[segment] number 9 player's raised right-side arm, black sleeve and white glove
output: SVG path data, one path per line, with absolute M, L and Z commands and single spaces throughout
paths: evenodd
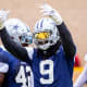
M 45 3 L 40 8 L 42 9 L 41 12 L 44 12 L 44 15 L 48 15 L 55 22 L 58 30 L 60 33 L 60 37 L 61 37 L 61 41 L 64 48 L 65 55 L 67 58 L 74 58 L 76 48 L 73 42 L 72 36 L 70 32 L 67 30 L 67 27 L 65 26 L 61 15 L 47 3 Z

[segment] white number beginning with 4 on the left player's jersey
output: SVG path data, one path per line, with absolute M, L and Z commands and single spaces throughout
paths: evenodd
M 16 83 L 22 83 L 22 87 L 30 87 L 29 80 L 30 76 L 26 78 L 25 73 L 32 72 L 29 66 L 26 66 L 26 72 L 24 71 L 24 66 L 21 65 L 17 76 L 15 77 Z M 26 80 L 28 79 L 28 86 L 26 85 Z

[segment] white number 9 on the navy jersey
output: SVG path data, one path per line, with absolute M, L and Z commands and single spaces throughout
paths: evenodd
M 49 65 L 49 70 L 45 70 L 45 65 Z M 52 84 L 53 83 L 53 61 L 52 60 L 45 60 L 40 62 L 40 74 L 41 75 L 49 75 L 48 79 L 40 78 L 41 84 Z

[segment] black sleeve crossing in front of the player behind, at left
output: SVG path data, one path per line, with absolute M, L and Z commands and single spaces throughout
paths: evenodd
M 5 27 L 2 30 L 0 30 L 0 37 L 5 49 L 9 52 L 11 52 L 14 57 L 25 62 L 30 61 L 26 49 L 11 39 Z

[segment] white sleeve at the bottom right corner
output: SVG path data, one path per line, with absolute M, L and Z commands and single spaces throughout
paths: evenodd
M 76 79 L 74 87 L 83 87 L 86 84 L 86 82 L 87 82 L 87 64 L 83 73 Z

